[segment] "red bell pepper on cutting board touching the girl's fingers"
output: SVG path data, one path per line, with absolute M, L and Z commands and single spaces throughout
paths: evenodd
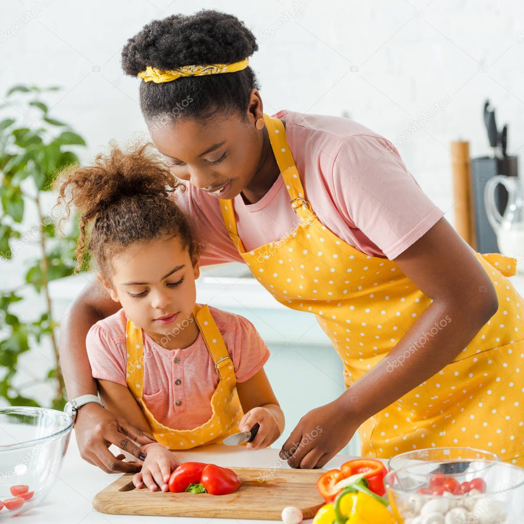
M 202 462 L 186 462 L 176 468 L 169 477 L 171 493 L 209 493 L 228 495 L 241 486 L 237 474 L 225 467 Z

